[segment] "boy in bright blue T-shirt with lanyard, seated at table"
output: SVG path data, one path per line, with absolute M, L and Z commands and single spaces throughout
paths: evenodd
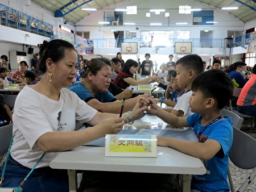
M 233 128 L 230 118 L 221 115 L 221 109 L 232 97 L 232 80 L 221 70 L 208 70 L 195 78 L 191 89 L 189 105 L 195 114 L 187 117 L 161 110 L 151 98 L 146 99 L 144 105 L 151 105 L 148 112 L 174 127 L 193 127 L 199 141 L 158 137 L 157 144 L 204 160 L 207 173 L 193 176 L 191 189 L 229 191 L 228 153 L 232 147 Z

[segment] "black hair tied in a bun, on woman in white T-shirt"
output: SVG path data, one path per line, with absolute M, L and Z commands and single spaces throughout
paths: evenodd
M 61 39 L 53 39 L 49 42 L 43 41 L 43 44 L 38 44 L 38 47 L 40 49 L 38 69 L 42 73 L 46 73 L 46 60 L 48 58 L 57 63 L 65 57 L 65 51 L 67 49 L 76 51 L 75 47 L 71 43 Z

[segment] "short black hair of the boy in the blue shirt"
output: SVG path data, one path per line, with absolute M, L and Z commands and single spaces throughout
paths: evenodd
M 195 78 L 192 91 L 200 90 L 205 97 L 213 97 L 219 109 L 224 108 L 233 95 L 233 82 L 220 69 L 208 70 Z

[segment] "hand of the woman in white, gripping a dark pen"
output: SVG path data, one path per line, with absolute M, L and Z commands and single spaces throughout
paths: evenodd
M 103 120 L 97 127 L 100 128 L 101 132 L 106 134 L 116 134 L 123 128 L 123 118 L 111 118 Z

